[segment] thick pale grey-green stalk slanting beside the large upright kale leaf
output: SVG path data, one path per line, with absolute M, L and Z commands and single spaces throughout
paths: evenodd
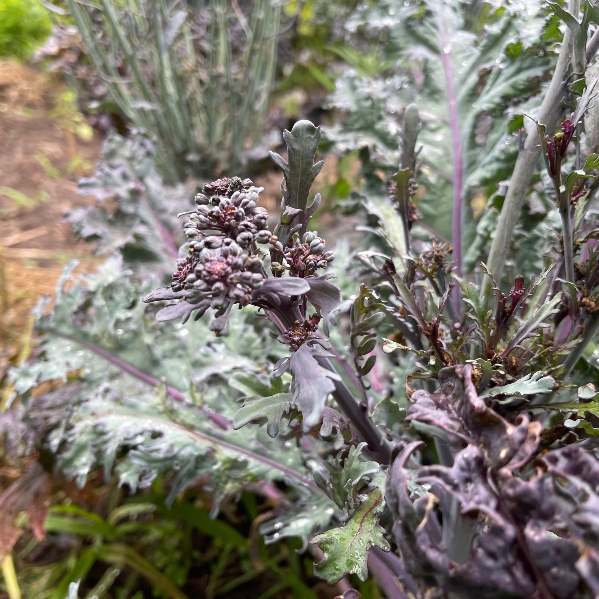
M 570 13 L 577 13 L 579 6 L 579 0 L 570 0 L 568 10 Z M 565 91 L 564 79 L 570 65 L 571 53 L 572 35 L 570 29 L 566 29 L 549 89 L 547 89 L 547 93 L 537 113 L 537 120 L 546 126 L 547 131 L 553 130 L 561 113 L 561 101 Z M 516 160 L 516 166 L 510 180 L 506 199 L 503 202 L 503 208 L 501 208 L 499 222 L 497 223 L 497 229 L 491 243 L 491 252 L 489 252 L 489 260 L 487 262 L 489 271 L 498 285 L 501 283 L 501 274 L 503 274 L 503 267 L 506 264 L 507 252 L 512 242 L 514 228 L 518 222 L 522 204 L 524 204 L 528 186 L 530 185 L 530 180 L 533 176 L 537 159 L 539 158 L 539 143 L 539 132 L 533 126 L 527 135 L 524 148 Z M 485 274 L 483 284 L 480 288 L 481 299 L 486 300 L 489 297 L 491 286 L 492 279 Z

